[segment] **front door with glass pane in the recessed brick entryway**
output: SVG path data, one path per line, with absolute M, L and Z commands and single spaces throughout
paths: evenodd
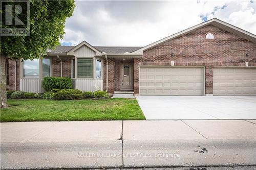
M 133 64 L 121 63 L 121 90 L 133 89 Z

